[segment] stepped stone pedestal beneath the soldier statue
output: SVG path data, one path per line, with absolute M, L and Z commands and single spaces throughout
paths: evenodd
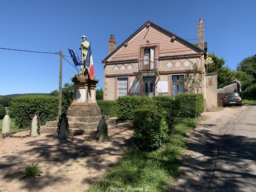
M 88 75 L 71 78 L 74 83 L 74 100 L 68 108 L 67 117 L 71 134 L 94 135 L 101 120 L 100 107 L 96 102 L 96 84 L 99 79 Z M 59 119 L 59 117 L 57 117 Z M 116 120 L 105 116 L 109 129 L 118 127 Z M 47 121 L 41 126 L 42 133 L 57 133 L 58 121 Z

